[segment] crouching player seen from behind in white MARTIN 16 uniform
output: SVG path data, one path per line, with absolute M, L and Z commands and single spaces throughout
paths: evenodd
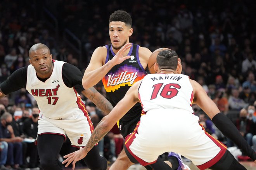
M 157 74 L 147 75 L 135 83 L 98 124 L 85 148 L 64 156 L 67 158 L 64 162 L 69 164 L 73 161 L 74 168 L 76 161 L 83 158 L 127 110 L 140 102 L 144 115 L 125 141 L 125 151 L 131 162 L 152 165 L 158 155 L 171 150 L 189 158 L 201 170 L 246 170 L 225 145 L 199 125 L 199 117 L 193 114 L 191 107 L 197 104 L 217 128 L 256 163 L 256 154 L 234 124 L 220 113 L 199 83 L 177 73 L 181 71 L 176 70 L 181 69 L 175 51 L 161 51 L 155 64 Z

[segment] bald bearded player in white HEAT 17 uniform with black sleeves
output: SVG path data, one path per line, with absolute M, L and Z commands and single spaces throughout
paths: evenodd
M 83 74 L 73 65 L 52 60 L 45 44 L 29 49 L 31 65 L 16 70 L 0 85 L 0 98 L 25 87 L 35 97 L 40 109 L 38 121 L 38 155 L 44 170 L 61 170 L 57 158 L 61 146 L 69 137 L 72 146 L 85 146 L 93 131 L 85 104 L 78 92 L 109 113 L 112 105 L 95 88 L 84 89 Z M 99 155 L 97 147 L 84 158 L 92 170 L 106 170 L 107 160 Z

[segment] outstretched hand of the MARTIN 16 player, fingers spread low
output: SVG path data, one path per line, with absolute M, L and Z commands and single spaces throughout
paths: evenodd
M 83 159 L 86 155 L 87 155 L 87 151 L 84 150 L 82 147 L 80 147 L 80 150 L 78 151 L 74 151 L 72 153 L 69 153 L 68 155 L 63 156 L 63 158 L 67 158 L 66 160 L 64 160 L 62 162 L 62 164 L 66 163 L 65 167 L 67 167 L 71 162 L 73 167 L 72 169 L 74 170 L 75 166 L 76 166 L 76 162 L 78 162 L 79 160 Z

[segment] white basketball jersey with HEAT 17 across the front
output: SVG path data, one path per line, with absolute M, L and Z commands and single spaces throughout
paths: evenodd
M 45 82 L 37 78 L 32 65 L 28 66 L 26 89 L 35 97 L 40 115 L 51 119 L 72 118 L 74 113 L 87 114 L 80 95 L 74 88 L 67 87 L 63 82 L 62 66 L 64 63 L 54 61 L 52 75 Z

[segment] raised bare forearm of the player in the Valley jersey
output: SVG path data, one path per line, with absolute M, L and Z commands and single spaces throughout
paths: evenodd
M 88 89 L 102 80 L 107 72 L 114 66 L 111 61 L 108 61 L 105 65 L 95 70 L 85 72 L 82 79 L 83 88 Z

